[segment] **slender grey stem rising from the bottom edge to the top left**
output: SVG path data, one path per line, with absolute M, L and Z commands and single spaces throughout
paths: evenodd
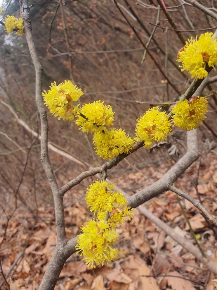
M 42 283 L 39 289 L 54 289 L 55 284 L 58 280 L 59 274 L 66 261 L 63 246 L 66 244 L 66 233 L 65 233 L 65 220 L 64 220 L 64 207 L 63 207 L 63 196 L 60 194 L 55 176 L 53 174 L 51 164 L 48 158 L 48 121 L 46 109 L 43 104 L 41 96 L 42 92 L 42 66 L 39 61 L 37 50 L 32 37 L 32 26 L 29 18 L 29 7 L 27 0 L 20 0 L 20 16 L 24 20 L 25 36 L 29 47 L 29 52 L 32 57 L 32 61 L 35 68 L 35 99 L 39 109 L 40 120 L 41 120 L 41 162 L 43 164 L 46 176 L 51 186 L 53 193 L 54 204 L 55 204 L 55 219 L 56 219 L 56 231 L 57 231 L 57 245 L 51 262 L 49 263 L 48 274 L 44 275 Z M 46 279 L 49 277 L 49 281 Z M 48 281 L 48 283 L 47 283 Z

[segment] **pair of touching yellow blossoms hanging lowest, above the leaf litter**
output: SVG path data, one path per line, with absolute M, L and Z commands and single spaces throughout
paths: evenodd
M 108 190 L 109 189 L 109 190 Z M 118 191 L 112 191 L 114 185 L 107 181 L 95 181 L 86 193 L 86 202 L 90 210 L 97 213 L 97 219 L 89 220 L 82 228 L 76 245 L 77 253 L 81 252 L 83 260 L 91 267 L 109 264 L 117 258 L 117 249 L 112 244 L 119 237 L 115 228 L 133 216 L 127 207 L 126 198 Z

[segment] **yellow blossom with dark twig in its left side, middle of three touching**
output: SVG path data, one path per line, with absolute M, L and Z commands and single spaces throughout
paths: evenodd
M 82 106 L 80 113 L 82 115 L 77 116 L 75 123 L 80 126 L 79 130 L 82 132 L 96 132 L 110 127 L 114 121 L 114 112 L 110 105 L 104 105 L 104 102 L 96 101 L 92 104 L 85 104 Z

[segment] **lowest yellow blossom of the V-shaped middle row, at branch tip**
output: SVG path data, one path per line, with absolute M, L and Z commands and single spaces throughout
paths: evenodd
M 122 129 L 111 129 L 95 132 L 93 135 L 93 144 L 96 146 L 96 154 L 103 159 L 112 160 L 121 153 L 128 153 L 133 140 Z

